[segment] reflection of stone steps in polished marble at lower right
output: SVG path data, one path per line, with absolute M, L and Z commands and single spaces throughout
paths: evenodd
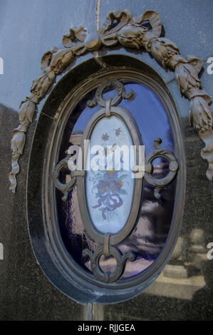
M 205 287 L 202 272 L 207 262 L 204 231 L 193 229 L 188 242 L 187 244 L 183 237 L 177 239 L 170 264 L 166 265 L 162 274 L 145 290 L 145 294 L 191 300 L 195 292 Z

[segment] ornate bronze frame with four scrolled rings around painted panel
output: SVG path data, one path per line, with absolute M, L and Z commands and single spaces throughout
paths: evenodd
M 103 100 L 103 91 L 105 88 L 114 86 L 117 90 L 117 94 L 114 98 L 110 98 L 107 100 Z M 95 105 L 99 105 L 101 107 L 88 121 L 87 125 L 85 126 L 85 130 L 83 131 L 83 137 L 81 140 L 81 150 L 84 148 L 85 140 L 90 139 L 90 135 L 93 133 L 93 129 L 95 125 L 98 123 L 99 120 L 102 118 L 110 118 L 111 115 L 115 115 L 121 120 L 123 123 L 128 127 L 130 131 L 130 135 L 133 140 L 133 145 L 136 148 L 141 145 L 140 140 L 140 132 L 137 129 L 137 125 L 135 120 L 132 118 L 132 115 L 129 113 L 128 110 L 125 108 L 117 107 L 120 101 L 125 99 L 133 99 L 134 93 L 130 92 L 128 94 L 125 93 L 125 88 L 123 83 L 118 80 L 108 80 L 101 83 L 98 86 L 95 92 L 95 98 L 93 101 L 88 101 L 87 105 L 90 108 L 93 108 Z M 160 147 L 160 143 L 162 141 L 160 138 L 155 140 L 154 146 L 155 150 L 147 155 L 145 159 L 145 180 L 149 182 L 151 185 L 155 186 L 154 195 L 157 199 L 160 198 L 159 191 L 167 187 L 170 182 L 175 178 L 178 169 L 178 163 L 175 156 L 170 153 L 169 151 Z M 83 161 L 85 161 L 85 157 L 87 156 L 87 152 L 83 152 Z M 62 200 L 68 200 L 68 191 L 72 190 L 74 185 L 77 184 L 77 192 L 78 192 L 78 204 L 80 207 L 80 215 L 82 218 L 83 225 L 85 227 L 85 232 L 88 236 L 95 242 L 98 242 L 99 247 L 93 253 L 90 249 L 83 250 L 83 256 L 88 256 L 90 258 L 91 269 L 96 279 L 100 280 L 101 282 L 116 282 L 123 274 L 125 270 L 125 262 L 129 259 L 131 262 L 135 261 L 136 255 L 133 252 L 127 252 L 122 254 L 118 249 L 118 244 L 123 242 L 124 239 L 128 238 L 128 236 L 133 231 L 133 228 L 137 224 L 137 215 L 140 208 L 140 202 L 142 197 L 142 177 L 134 179 L 134 190 L 133 190 L 133 199 L 132 205 L 130 210 L 130 215 L 128 217 L 127 222 L 125 222 L 125 226 L 122 230 L 115 234 L 103 234 L 99 232 L 93 225 L 93 222 L 90 219 L 90 215 L 88 212 L 87 200 L 85 197 L 85 173 L 84 171 L 74 170 L 71 171 L 71 181 L 67 184 L 62 184 L 59 181 L 60 171 L 63 169 L 68 168 L 68 159 L 71 155 L 68 155 L 65 159 L 61 160 L 57 165 L 55 170 L 53 170 L 53 181 L 58 190 L 63 192 Z M 157 157 L 167 158 L 170 161 L 169 170 L 170 172 L 167 176 L 158 179 L 152 176 L 153 167 L 152 161 L 155 160 Z M 133 173 L 138 172 L 138 165 L 137 168 L 133 167 Z M 100 269 L 99 261 L 100 257 L 105 255 L 107 257 L 113 256 L 116 259 L 117 265 L 115 271 L 113 273 L 106 273 Z

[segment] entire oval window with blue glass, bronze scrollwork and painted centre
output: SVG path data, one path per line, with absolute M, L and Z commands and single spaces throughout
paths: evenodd
M 133 169 L 88 169 L 98 150 L 85 155 L 84 172 L 62 167 L 73 157 L 65 155 L 70 145 L 84 151 L 85 140 L 102 147 L 103 155 L 107 146 L 143 144 L 145 175 L 131 177 L 140 173 Z M 119 285 L 138 279 L 159 259 L 172 223 L 178 168 L 170 117 L 149 87 L 112 80 L 76 105 L 63 133 L 54 181 L 63 243 L 85 274 Z

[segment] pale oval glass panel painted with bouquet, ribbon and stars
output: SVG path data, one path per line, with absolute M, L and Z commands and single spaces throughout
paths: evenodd
M 101 147 L 93 150 L 94 145 L 101 145 L 103 150 Z M 115 145 L 117 148 L 125 145 L 123 148 L 127 150 L 125 153 L 121 150 L 120 158 L 117 156 L 117 160 L 110 160 Z M 90 152 L 93 150 L 93 154 L 87 155 L 86 198 L 93 225 L 102 233 L 119 232 L 125 226 L 130 214 L 134 188 L 130 168 L 130 145 L 133 145 L 133 140 L 127 126 L 123 120 L 114 115 L 98 121 L 90 137 Z M 107 151 L 108 154 L 111 153 L 110 157 L 108 155 L 108 160 Z M 96 165 L 102 163 L 101 170 L 95 170 L 94 166 L 93 169 L 88 169 L 94 161 Z

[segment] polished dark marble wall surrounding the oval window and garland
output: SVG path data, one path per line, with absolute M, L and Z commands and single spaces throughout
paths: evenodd
M 95 5 L 95 0 L 8 0 L 0 4 L 0 57 L 4 59 L 4 75 L 0 75 L 0 242 L 4 244 L 4 260 L 0 260 L 1 320 L 82 320 L 85 317 L 84 306 L 66 297 L 48 281 L 36 264 L 31 249 L 26 223 L 26 179 L 36 118 L 28 128 L 16 195 L 9 191 L 8 175 L 11 169 L 11 134 L 18 125 L 19 103 L 28 95 L 33 79 L 41 73 L 41 56 L 53 46 L 61 47 L 63 34 L 68 33 L 72 26 L 83 25 L 88 31 L 95 30 Z M 203 61 L 213 56 L 211 0 L 100 0 L 100 26 L 108 11 L 116 7 L 128 8 L 133 11 L 133 15 L 154 9 L 162 19 L 165 37 L 177 43 L 183 56 L 194 54 Z M 167 277 L 167 282 L 154 282 L 147 292 L 134 299 L 118 305 L 98 305 L 98 309 L 103 309 L 102 317 L 106 320 L 213 319 L 213 260 L 206 257 L 207 244 L 213 242 L 212 185 L 205 177 L 207 163 L 200 158 L 200 150 L 204 145 L 189 127 L 189 102 L 181 98 L 174 73 L 165 72 L 147 53 L 119 47 L 99 51 L 100 56 L 113 53 L 127 54 L 152 66 L 168 83 L 167 87 L 177 105 L 187 159 L 185 212 L 180 230 L 180 237 L 185 240 L 185 256 L 171 259 L 170 264 L 182 266 L 184 261 L 190 264 L 187 265 L 189 273 L 185 279 Z M 78 58 L 75 65 L 92 56 L 88 53 Z M 98 70 L 98 64 L 94 62 L 94 66 Z M 61 76 L 57 82 L 60 79 Z M 75 79 L 72 80 L 70 86 L 66 87 L 67 91 L 75 85 Z M 204 90 L 213 96 L 213 75 L 207 74 L 207 63 L 204 63 L 201 80 Z M 43 103 L 38 105 L 38 110 L 41 110 Z M 53 99 L 53 110 L 55 103 Z M 45 110 L 45 106 L 43 110 L 48 114 L 43 116 L 45 122 L 51 122 L 49 117 L 53 116 L 53 111 Z M 36 175 L 34 180 L 36 185 Z M 204 235 L 202 241 L 198 238 L 197 242 L 198 245 L 202 244 L 203 259 L 197 256 L 198 253 L 193 254 L 194 229 L 202 229 Z M 43 259 L 43 262 L 46 261 Z M 172 286 L 174 283 L 175 286 Z M 170 286 L 173 296 L 168 294 Z M 185 287 L 185 291 L 182 287 Z M 191 289 L 193 294 L 189 297 Z M 96 314 L 98 309 L 94 309 Z M 93 319 L 95 317 L 93 315 Z

